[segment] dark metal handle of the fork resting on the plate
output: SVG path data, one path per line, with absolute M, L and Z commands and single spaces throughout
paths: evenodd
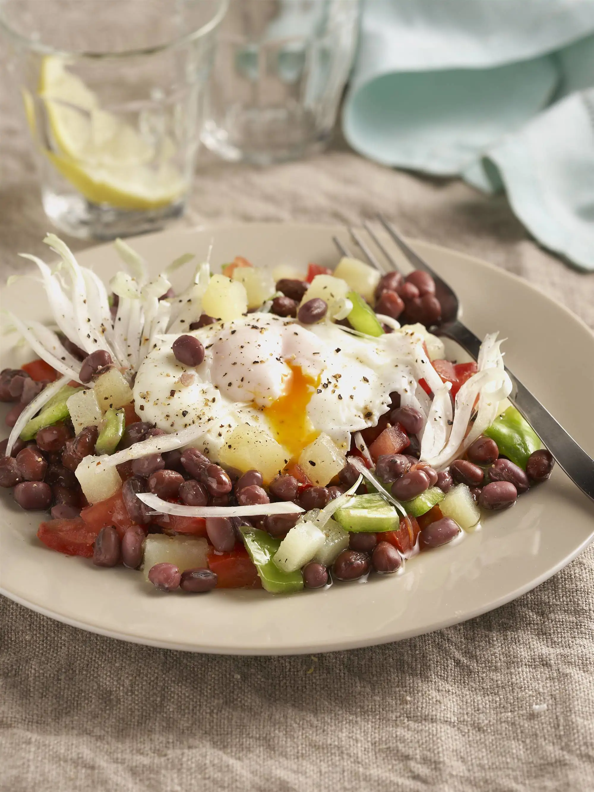
M 469 355 L 476 360 L 481 341 L 462 322 L 452 322 L 441 329 L 440 335 L 456 341 Z M 536 434 L 540 437 L 558 466 L 576 484 L 583 493 L 594 500 L 594 459 L 565 432 L 561 424 L 554 419 L 546 407 L 533 396 L 508 367 L 509 379 L 512 380 L 510 401 L 522 413 Z

